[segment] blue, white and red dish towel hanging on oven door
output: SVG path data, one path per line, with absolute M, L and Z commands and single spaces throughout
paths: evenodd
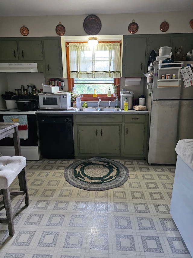
M 19 138 L 24 140 L 28 139 L 27 116 L 3 116 L 3 121 L 5 123 L 19 122 Z M 10 134 L 8 137 L 13 138 L 13 134 Z

